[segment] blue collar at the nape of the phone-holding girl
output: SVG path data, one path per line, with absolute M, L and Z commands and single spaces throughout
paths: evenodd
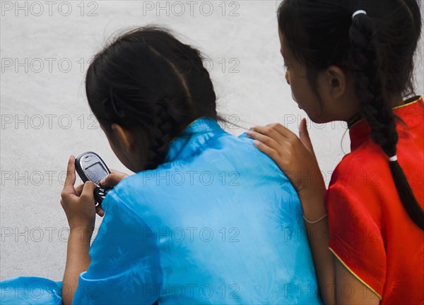
M 222 133 L 226 132 L 215 119 L 206 116 L 196 119 L 171 141 L 163 163 L 187 159 L 201 150 L 208 140 Z

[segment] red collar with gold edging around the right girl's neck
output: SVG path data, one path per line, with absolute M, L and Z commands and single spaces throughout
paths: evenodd
M 407 126 L 412 127 L 414 122 L 417 122 L 418 124 L 423 120 L 424 115 L 423 97 L 418 96 L 414 98 L 412 102 L 394 107 L 393 113 L 404 120 Z M 416 118 L 419 120 L 417 121 Z M 399 131 L 399 128 L 404 128 L 402 126 L 402 124 L 396 124 L 396 129 Z M 367 140 L 370 136 L 370 132 L 371 128 L 366 119 L 362 119 L 358 121 L 358 123 L 353 124 L 349 130 L 349 135 L 351 136 L 351 151 L 358 148 L 365 140 Z

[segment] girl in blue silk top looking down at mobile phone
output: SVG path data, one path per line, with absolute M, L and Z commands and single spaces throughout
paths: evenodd
M 96 211 L 71 156 L 63 282 L 5 280 L 2 304 L 321 304 L 298 195 L 250 138 L 220 127 L 196 49 L 160 28 L 126 32 L 95 56 L 86 93 L 137 174 L 102 181 L 114 189 Z M 37 284 L 43 297 L 22 293 Z

